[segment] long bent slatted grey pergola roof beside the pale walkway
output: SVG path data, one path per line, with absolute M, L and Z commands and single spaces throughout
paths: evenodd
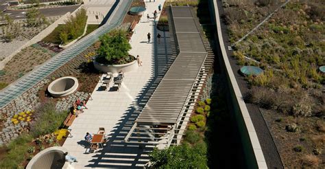
M 179 54 L 135 120 L 125 142 L 180 144 L 202 84 L 213 64 L 197 17 L 188 6 L 171 6 L 170 19 Z M 208 49 L 207 49 L 208 48 Z

